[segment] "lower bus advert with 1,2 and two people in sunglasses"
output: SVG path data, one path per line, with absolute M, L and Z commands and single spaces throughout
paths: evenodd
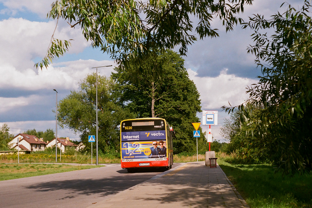
M 148 161 L 151 160 L 163 160 L 167 157 L 167 144 L 166 140 L 163 142 L 163 148 L 160 148 L 159 139 L 157 145 L 153 145 L 153 141 L 139 141 L 139 142 L 122 142 L 121 153 L 122 159 L 129 161 Z M 156 147 L 156 148 L 154 148 Z M 159 159 L 160 158 L 160 159 Z M 144 160 L 142 160 L 144 159 Z

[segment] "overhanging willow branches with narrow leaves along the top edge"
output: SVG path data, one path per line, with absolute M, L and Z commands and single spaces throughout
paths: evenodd
M 217 37 L 218 30 L 210 25 L 214 18 L 219 18 L 230 31 L 242 21 L 235 15 L 251 3 L 252 0 L 58 0 L 52 3 L 47 17 L 63 18 L 70 27 L 80 27 L 92 47 L 109 53 L 120 66 L 127 67 L 129 60 L 137 65 L 159 49 L 162 52 L 180 46 L 180 55 L 185 55 L 187 46 L 197 40 L 190 32 L 197 33 L 200 39 Z M 198 18 L 195 31 L 193 16 Z M 46 57 L 35 66 L 47 67 L 69 47 L 68 40 L 52 35 Z

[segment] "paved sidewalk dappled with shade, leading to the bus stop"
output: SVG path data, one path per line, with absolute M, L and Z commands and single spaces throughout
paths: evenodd
M 131 180 L 131 176 L 129 177 Z M 188 162 L 97 202 L 90 208 L 249 208 L 222 169 Z

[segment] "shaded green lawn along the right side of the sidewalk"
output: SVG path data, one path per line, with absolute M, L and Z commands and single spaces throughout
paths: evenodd
M 312 174 L 283 176 L 270 164 L 239 164 L 229 157 L 217 162 L 251 208 L 312 208 Z

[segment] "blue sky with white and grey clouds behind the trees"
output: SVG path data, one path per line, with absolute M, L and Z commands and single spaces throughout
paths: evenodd
M 280 8 L 284 0 L 256 0 L 246 6 L 240 16 L 259 13 L 266 17 L 283 12 Z M 56 21 L 46 19 L 53 0 L 0 0 L 0 125 L 7 123 L 10 133 L 18 134 L 27 129 L 55 131 L 56 92 L 58 100 L 78 89 L 78 82 L 89 73 L 92 67 L 113 65 L 99 69 L 100 75 L 109 76 L 115 62 L 107 54 L 92 49 L 80 29 L 71 29 L 60 21 L 54 37 L 74 39 L 70 51 L 42 71 L 33 66 L 45 55 Z M 303 0 L 290 0 L 288 3 L 298 8 Z M 185 68 L 189 77 L 197 85 L 201 94 L 202 110 L 218 110 L 217 126 L 212 126 L 213 137 L 222 140 L 219 128 L 228 115 L 221 112 L 223 105 L 238 105 L 248 99 L 246 86 L 257 82 L 261 75 L 255 68 L 254 57 L 247 54 L 246 48 L 252 44 L 252 31 L 241 29 L 225 32 L 220 21 L 212 22 L 212 28 L 219 28 L 220 37 L 207 38 L 188 47 Z M 201 118 L 201 114 L 197 114 Z M 207 127 L 204 127 L 207 130 Z M 69 129 L 58 128 L 58 137 L 69 136 L 79 139 Z

